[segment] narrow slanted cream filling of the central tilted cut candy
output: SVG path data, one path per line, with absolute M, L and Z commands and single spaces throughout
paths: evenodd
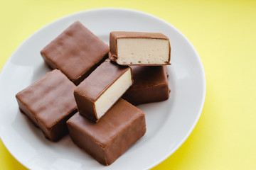
M 120 98 L 129 86 L 132 86 L 131 68 L 122 74 L 114 83 L 95 101 L 97 118 L 101 118 L 107 110 Z

